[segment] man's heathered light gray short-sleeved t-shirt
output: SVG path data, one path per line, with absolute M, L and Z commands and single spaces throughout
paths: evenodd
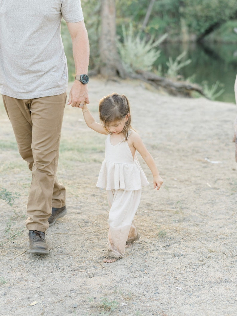
M 80 0 L 0 0 L 1 94 L 33 99 L 67 90 L 62 17 L 82 21 Z

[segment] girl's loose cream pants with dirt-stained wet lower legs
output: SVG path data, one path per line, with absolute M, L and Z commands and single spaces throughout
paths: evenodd
M 114 258 L 123 258 L 128 237 L 137 237 L 133 217 L 139 206 L 142 190 L 109 190 L 106 192 L 110 206 L 108 255 Z

